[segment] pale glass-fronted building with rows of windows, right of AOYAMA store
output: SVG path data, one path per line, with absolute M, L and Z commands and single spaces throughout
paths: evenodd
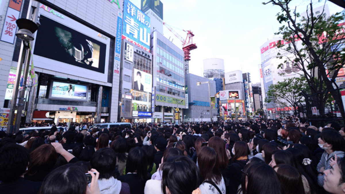
M 188 108 L 185 95 L 184 52 L 158 31 L 151 33 L 153 57 L 153 87 L 155 89 L 156 122 L 181 120 L 183 109 Z M 178 111 L 176 111 L 178 108 Z M 176 113 L 176 114 L 174 114 Z

